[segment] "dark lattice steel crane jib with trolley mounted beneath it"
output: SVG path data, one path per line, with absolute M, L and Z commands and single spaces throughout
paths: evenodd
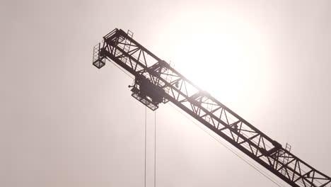
M 98 59 L 93 59 L 93 65 L 101 68 L 106 59 L 112 60 L 134 75 L 134 85 L 129 86 L 132 96 L 151 110 L 171 101 L 291 186 L 323 187 L 331 182 L 329 176 L 281 147 L 123 30 L 112 30 L 97 46 L 98 54 L 93 57 Z

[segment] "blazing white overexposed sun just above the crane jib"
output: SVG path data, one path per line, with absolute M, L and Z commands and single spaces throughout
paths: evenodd
M 190 31 L 179 33 L 173 62 L 175 69 L 200 88 L 223 101 L 231 100 L 256 79 L 252 74 L 266 52 L 260 35 L 248 24 L 238 20 L 214 23 L 219 25 L 189 23 L 180 29 Z

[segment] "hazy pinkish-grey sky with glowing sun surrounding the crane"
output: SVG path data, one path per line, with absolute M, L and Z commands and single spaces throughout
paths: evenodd
M 114 28 L 331 175 L 330 0 L 1 1 L 0 21 L 0 186 L 144 186 L 145 108 L 91 62 Z M 275 186 L 169 104 L 156 126 L 157 186 Z

